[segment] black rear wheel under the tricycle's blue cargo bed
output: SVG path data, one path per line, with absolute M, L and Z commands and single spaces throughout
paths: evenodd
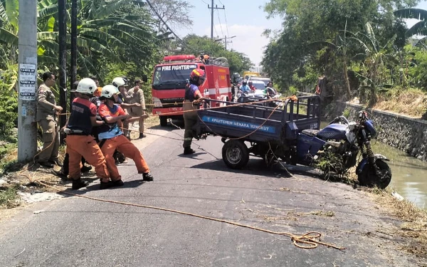
M 241 169 L 248 164 L 249 150 L 240 140 L 229 140 L 222 148 L 223 161 L 231 169 Z

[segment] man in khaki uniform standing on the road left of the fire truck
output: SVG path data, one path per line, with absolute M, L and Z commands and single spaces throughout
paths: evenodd
M 127 108 L 127 112 L 132 117 L 139 117 L 138 123 L 139 123 L 139 139 L 146 137 L 147 135 L 144 135 L 144 120 L 148 117 L 147 113 L 145 112 L 145 99 L 144 99 L 144 90 L 140 88 L 141 86 L 141 80 L 135 80 L 135 87 L 130 88 L 129 91 L 127 91 L 127 94 L 130 96 L 130 104 L 140 104 L 141 106 L 132 106 L 131 108 Z M 133 121 L 132 119 L 128 122 L 127 129 L 132 129 Z M 129 136 L 130 131 L 125 131 L 125 136 Z

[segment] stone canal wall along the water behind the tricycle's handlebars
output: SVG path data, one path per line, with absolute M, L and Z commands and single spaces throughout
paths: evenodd
M 416 119 L 405 115 L 382 110 L 364 108 L 351 103 L 335 103 L 334 108 L 325 115 L 328 120 L 349 112 L 349 120 L 357 120 L 360 110 L 371 113 L 374 126 L 378 132 L 377 139 L 381 142 L 403 150 L 417 159 L 427 162 L 427 120 Z

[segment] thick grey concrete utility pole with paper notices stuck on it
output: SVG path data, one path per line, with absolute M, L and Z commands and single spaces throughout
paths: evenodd
M 18 161 L 37 152 L 37 1 L 19 1 Z

